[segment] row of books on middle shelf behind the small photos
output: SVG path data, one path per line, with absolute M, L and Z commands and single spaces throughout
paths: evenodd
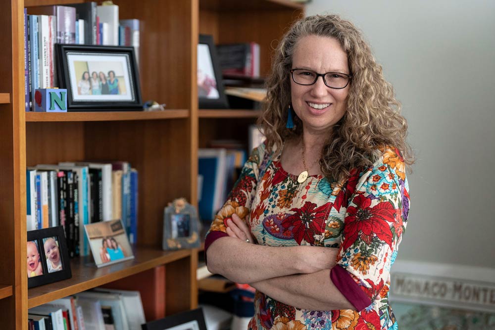
M 125 161 L 61 162 L 26 169 L 27 230 L 63 226 L 69 255 L 89 255 L 84 225 L 122 219 L 131 243 L 138 223 L 138 172 Z

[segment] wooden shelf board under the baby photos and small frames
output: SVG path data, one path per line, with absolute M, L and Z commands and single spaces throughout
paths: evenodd
M 162 251 L 153 248 L 134 248 L 134 260 L 97 268 L 92 258 L 71 260 L 72 278 L 28 290 L 28 308 L 42 305 L 54 299 L 91 289 L 93 287 L 123 279 L 148 269 L 167 264 L 191 255 L 191 250 Z M 1 291 L 0 291 L 1 292 Z

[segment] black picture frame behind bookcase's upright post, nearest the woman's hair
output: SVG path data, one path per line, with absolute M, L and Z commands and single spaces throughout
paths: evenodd
M 229 107 L 216 47 L 213 44 L 213 36 L 210 35 L 199 35 L 197 80 L 199 108 Z

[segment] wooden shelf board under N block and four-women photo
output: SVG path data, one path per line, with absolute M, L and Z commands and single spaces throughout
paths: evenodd
M 164 111 L 26 112 L 26 122 L 120 121 L 188 118 L 187 109 Z

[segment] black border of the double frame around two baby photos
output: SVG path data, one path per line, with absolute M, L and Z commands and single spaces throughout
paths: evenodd
M 49 247 L 50 239 L 53 239 L 58 248 L 59 266 L 61 270 L 49 270 L 47 255 L 45 251 L 45 243 Z M 65 240 L 65 234 L 62 226 L 50 227 L 46 229 L 38 229 L 27 232 L 27 253 L 28 253 L 28 288 L 40 286 L 43 284 L 58 282 L 67 280 L 72 277 L 70 270 L 69 252 L 67 249 L 67 242 Z M 38 249 L 39 260 L 41 264 L 43 274 L 33 275 L 36 271 L 31 270 L 30 274 L 30 251 L 33 248 L 32 244 L 36 244 Z M 36 266 L 35 268 L 38 268 Z

